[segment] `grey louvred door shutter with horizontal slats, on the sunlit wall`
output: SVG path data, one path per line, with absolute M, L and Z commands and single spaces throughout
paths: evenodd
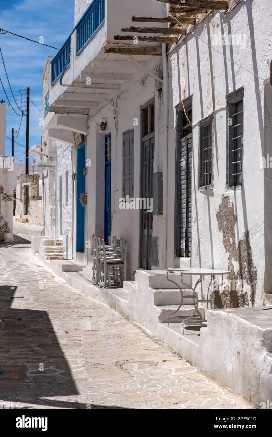
M 192 254 L 192 134 L 181 140 L 180 254 Z

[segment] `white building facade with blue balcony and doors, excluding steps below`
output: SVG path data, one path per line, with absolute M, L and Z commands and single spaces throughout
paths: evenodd
M 45 235 L 90 267 L 93 236 L 127 239 L 128 279 L 138 269 L 228 269 L 234 288 L 217 293 L 217 306 L 263 305 L 271 29 L 259 31 L 265 12 L 254 0 L 218 4 L 179 26 L 186 35 L 173 31 L 174 43 L 151 47 L 134 44 L 139 31 L 132 44 L 114 35 L 135 14 L 165 21 L 166 3 L 76 2 L 75 28 L 44 73 L 43 160 L 56 162 L 44 176 Z

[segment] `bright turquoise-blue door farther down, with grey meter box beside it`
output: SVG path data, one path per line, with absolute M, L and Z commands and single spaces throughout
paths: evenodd
M 77 149 L 76 171 L 76 251 L 85 249 L 85 207 L 80 203 L 80 193 L 85 193 L 85 143 Z

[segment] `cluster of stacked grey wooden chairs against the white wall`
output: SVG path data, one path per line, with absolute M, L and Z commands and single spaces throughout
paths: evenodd
M 109 239 L 110 243 L 110 239 Z M 126 280 L 127 240 L 112 237 L 112 244 L 105 244 L 100 238 L 93 238 L 93 282 L 101 287 L 111 287 Z

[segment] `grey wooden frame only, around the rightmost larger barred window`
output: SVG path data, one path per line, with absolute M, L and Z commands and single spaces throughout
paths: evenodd
M 237 104 L 239 102 L 243 102 L 243 143 L 242 143 L 242 182 L 238 185 L 230 184 L 230 128 L 232 125 L 228 125 L 228 119 L 230 117 L 230 107 L 233 104 Z M 227 181 L 227 189 L 230 190 L 241 190 L 243 187 L 243 177 L 244 177 L 244 87 L 241 87 L 238 90 L 233 91 L 226 96 L 227 103 L 227 169 L 226 169 L 226 181 Z

